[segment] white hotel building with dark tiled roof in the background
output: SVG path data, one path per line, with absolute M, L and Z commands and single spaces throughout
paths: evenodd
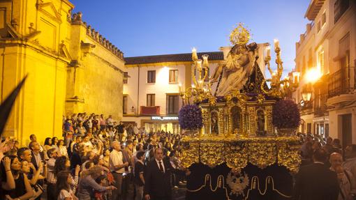
M 223 61 L 223 52 L 209 55 L 209 71 Z M 169 54 L 126 58 L 124 123 L 138 123 L 149 132 L 179 133 L 178 112 L 182 105 L 179 84 L 191 86 L 191 54 Z

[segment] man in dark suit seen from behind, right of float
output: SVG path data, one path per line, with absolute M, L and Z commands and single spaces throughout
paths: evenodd
M 339 183 L 334 171 L 324 164 L 326 152 L 322 149 L 313 153 L 313 164 L 299 169 L 295 177 L 293 197 L 296 200 L 337 200 Z

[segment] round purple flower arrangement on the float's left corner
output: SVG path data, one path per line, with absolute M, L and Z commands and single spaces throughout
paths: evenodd
M 202 128 L 202 110 L 197 105 L 184 105 L 179 110 L 179 125 L 182 129 L 198 130 Z

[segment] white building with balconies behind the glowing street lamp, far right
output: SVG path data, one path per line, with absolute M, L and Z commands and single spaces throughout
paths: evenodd
M 356 1 L 311 0 L 306 32 L 296 43 L 301 73 L 293 94 L 302 113 L 300 132 L 356 143 Z M 303 99 L 311 91 L 311 100 Z

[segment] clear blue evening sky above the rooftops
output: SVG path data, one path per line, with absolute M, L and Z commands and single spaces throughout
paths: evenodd
M 285 70 L 295 67 L 295 43 L 304 33 L 310 0 L 71 0 L 73 13 L 124 52 L 149 56 L 214 52 L 230 45 L 243 22 L 256 43 L 280 40 Z M 273 60 L 272 60 L 273 61 Z M 273 64 L 273 63 L 272 63 Z M 274 66 L 274 65 L 273 65 Z

